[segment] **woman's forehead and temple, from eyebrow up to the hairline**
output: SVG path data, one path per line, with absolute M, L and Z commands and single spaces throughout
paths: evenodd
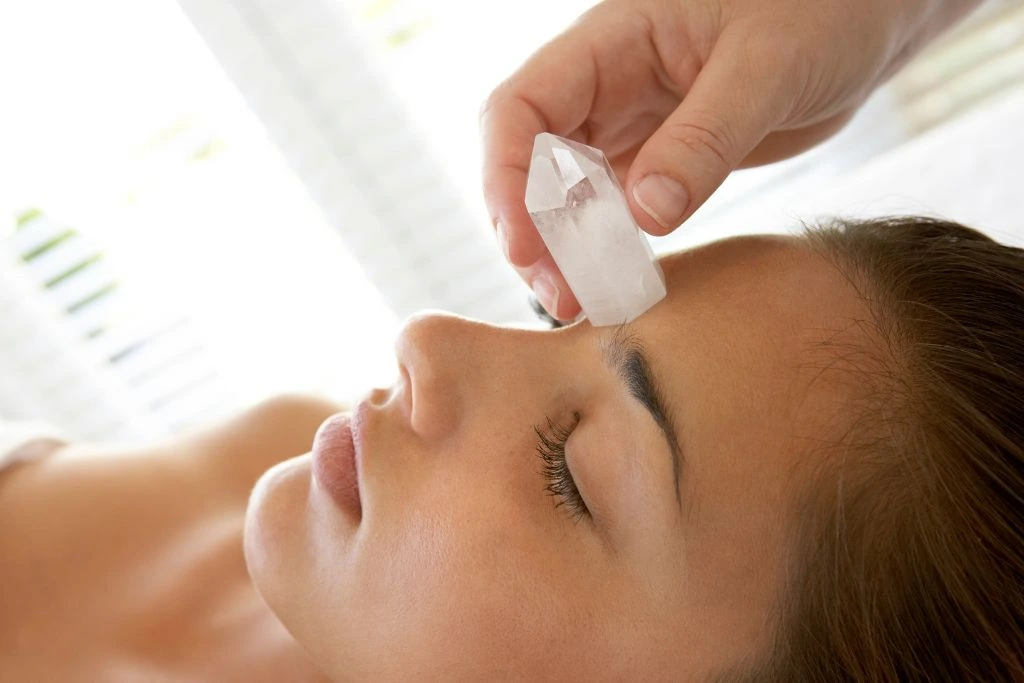
M 864 343 L 869 315 L 843 273 L 798 238 L 737 238 L 662 264 L 670 294 L 636 333 L 681 432 L 684 506 L 703 520 L 688 528 L 718 529 L 701 545 L 723 557 L 702 561 L 718 571 L 708 581 L 724 582 L 749 566 L 730 555 L 739 547 L 760 548 L 771 566 L 777 551 L 766 544 L 782 545 L 781 517 L 802 483 L 795 471 L 853 417 L 858 373 L 831 371 Z M 732 579 L 724 590 L 750 578 Z

